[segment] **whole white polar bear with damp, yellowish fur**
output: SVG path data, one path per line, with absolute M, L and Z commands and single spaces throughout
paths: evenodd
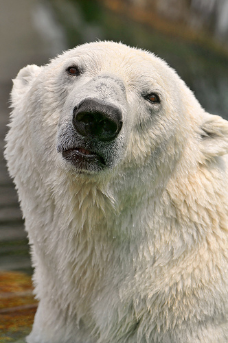
M 148 51 L 21 69 L 5 157 L 39 300 L 27 342 L 228 342 L 227 152 L 228 122 Z

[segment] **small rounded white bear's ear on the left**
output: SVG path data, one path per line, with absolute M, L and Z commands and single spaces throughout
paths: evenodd
M 16 78 L 13 81 L 13 87 L 11 92 L 12 107 L 19 101 L 21 95 L 24 95 L 29 89 L 30 84 L 34 78 L 38 76 L 43 67 L 38 67 L 35 64 L 27 65 L 19 71 Z

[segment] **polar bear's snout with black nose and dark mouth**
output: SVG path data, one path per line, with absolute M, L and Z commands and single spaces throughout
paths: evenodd
M 80 171 L 112 168 L 124 154 L 124 107 L 97 94 L 72 99 L 60 118 L 57 152 Z

